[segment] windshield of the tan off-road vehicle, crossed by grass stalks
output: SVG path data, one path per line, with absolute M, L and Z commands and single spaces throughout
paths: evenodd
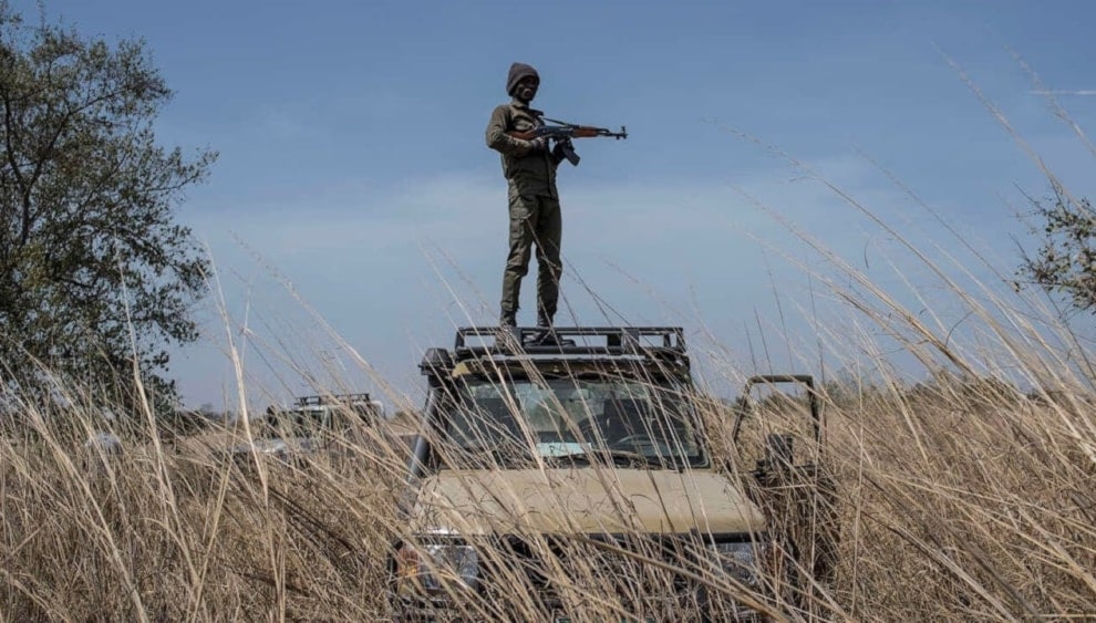
M 461 454 L 591 460 L 599 455 L 664 467 L 704 461 L 680 390 L 627 378 L 465 381 L 449 409 Z

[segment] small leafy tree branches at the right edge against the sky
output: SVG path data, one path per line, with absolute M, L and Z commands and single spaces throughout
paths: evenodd
M 1088 199 L 1063 193 L 1034 204 L 1042 242 L 1035 255 L 1024 253 L 1021 279 L 1061 294 L 1076 310 L 1096 312 L 1096 210 Z

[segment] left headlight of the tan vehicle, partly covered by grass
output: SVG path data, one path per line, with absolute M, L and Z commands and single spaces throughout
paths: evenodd
M 479 554 L 472 546 L 427 543 L 404 546 L 396 553 L 396 572 L 402 582 L 415 581 L 427 592 L 472 589 L 479 583 Z

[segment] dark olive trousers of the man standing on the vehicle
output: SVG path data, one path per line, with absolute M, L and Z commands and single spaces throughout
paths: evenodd
M 549 320 L 556 315 L 559 300 L 559 277 L 563 267 L 559 259 L 562 218 L 559 199 L 545 196 L 520 196 L 513 190 L 510 200 L 510 250 L 503 271 L 503 314 L 517 314 L 520 305 L 521 278 L 529 272 L 529 256 L 537 250 L 537 312 Z

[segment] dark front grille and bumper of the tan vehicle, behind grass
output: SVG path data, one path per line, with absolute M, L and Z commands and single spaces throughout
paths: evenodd
M 734 537 L 721 536 L 720 542 Z M 757 617 L 743 608 L 741 586 L 728 590 L 711 538 L 506 536 L 466 542 L 479 554 L 476 589 L 405 595 L 410 601 L 402 610 L 425 608 L 441 619 L 451 619 L 440 613 L 452 611 L 458 617 L 499 621 Z M 756 603 L 757 596 L 747 601 Z

